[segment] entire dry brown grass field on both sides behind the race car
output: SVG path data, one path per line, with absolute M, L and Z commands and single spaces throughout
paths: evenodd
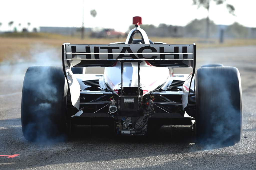
M 220 46 L 242 46 L 242 45 L 256 45 L 256 39 L 230 39 L 225 40 L 223 44 L 219 44 L 218 40 L 211 39 L 207 42 L 204 39 L 198 38 L 159 38 L 152 37 L 152 41 L 165 42 L 167 44 L 191 44 L 196 43 L 197 48 L 205 47 L 220 47 Z M 81 40 L 76 37 L 62 36 L 57 34 L 9 34 L 8 36 L 0 37 L 0 62 L 10 61 L 15 62 L 19 58 L 29 60 L 31 58 L 31 48 L 35 45 L 40 45 L 37 51 L 44 51 L 47 47 L 53 47 L 61 50 L 61 45 L 64 42 L 71 44 L 109 44 L 111 42 L 125 41 L 122 39 L 96 39 L 86 37 Z M 60 51 L 61 55 L 61 51 Z

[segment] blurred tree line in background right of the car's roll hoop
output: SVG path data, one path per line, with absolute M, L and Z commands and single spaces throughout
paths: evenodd
M 207 28 L 207 18 L 194 19 L 186 26 L 173 26 L 166 25 L 164 23 L 159 26 L 143 24 L 140 28 L 146 31 L 149 37 L 198 37 L 198 38 L 219 38 L 220 31 L 224 31 L 224 37 L 226 38 L 249 38 L 250 29 L 234 22 L 232 25 L 216 25 L 213 21 L 209 20 L 209 26 Z M 134 25 L 129 27 L 129 30 L 133 29 Z

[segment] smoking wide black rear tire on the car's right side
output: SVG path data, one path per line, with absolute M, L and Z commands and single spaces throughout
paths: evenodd
M 238 69 L 197 69 L 195 92 L 196 136 L 199 142 L 238 143 L 242 131 L 242 93 Z

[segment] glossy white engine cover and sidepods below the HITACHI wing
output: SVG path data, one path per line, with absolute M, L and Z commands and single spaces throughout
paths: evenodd
M 131 70 L 131 72 L 126 72 L 126 76 L 124 77 L 124 87 L 138 87 L 137 68 L 125 67 L 125 69 L 129 71 Z M 74 74 L 74 76 L 78 80 L 82 91 L 90 91 L 86 90 L 86 88 L 90 86 L 83 83 L 83 81 L 86 80 L 99 80 L 99 88 L 101 90 L 110 87 L 109 90 L 116 94 L 118 94 L 118 89 L 121 87 L 120 67 L 105 68 L 104 74 Z M 165 90 L 170 86 L 173 80 L 185 81 L 188 76 L 189 74 L 174 74 L 171 76 L 168 68 L 144 67 L 141 68 L 140 72 L 140 87 L 142 87 L 144 95 L 161 85 L 162 89 Z M 130 79 L 129 77 L 134 79 Z M 194 82 L 191 84 L 191 89 L 194 91 Z

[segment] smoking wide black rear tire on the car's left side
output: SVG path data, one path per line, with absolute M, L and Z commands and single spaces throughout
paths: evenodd
M 63 68 L 31 66 L 22 89 L 22 132 L 29 141 L 66 137 L 68 84 Z

